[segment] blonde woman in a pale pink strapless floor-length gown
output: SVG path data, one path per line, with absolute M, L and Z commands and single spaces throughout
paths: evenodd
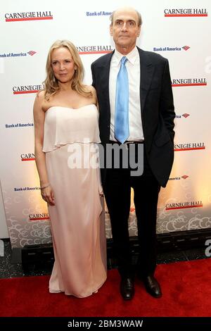
M 35 159 L 55 257 L 49 291 L 80 298 L 106 280 L 96 91 L 82 84 L 83 75 L 75 46 L 55 42 L 46 61 L 45 89 L 34 101 Z

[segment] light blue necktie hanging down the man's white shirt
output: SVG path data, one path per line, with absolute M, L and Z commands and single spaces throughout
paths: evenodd
M 122 144 L 129 137 L 129 84 L 126 62 L 127 57 L 123 56 L 117 75 L 115 100 L 115 138 Z

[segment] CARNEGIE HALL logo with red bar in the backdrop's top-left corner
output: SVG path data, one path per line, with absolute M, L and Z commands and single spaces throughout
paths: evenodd
M 20 20 L 53 20 L 51 11 L 27 11 L 24 13 L 6 13 L 6 22 L 17 22 Z

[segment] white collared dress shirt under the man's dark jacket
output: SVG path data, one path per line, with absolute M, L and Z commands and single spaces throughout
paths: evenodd
M 116 141 L 115 129 L 115 96 L 117 74 L 120 70 L 120 61 L 123 55 L 115 49 L 110 62 L 109 96 L 110 96 L 110 140 Z M 143 127 L 141 123 L 140 100 L 140 57 L 136 47 L 127 54 L 126 68 L 129 80 L 129 137 L 128 142 L 143 141 Z

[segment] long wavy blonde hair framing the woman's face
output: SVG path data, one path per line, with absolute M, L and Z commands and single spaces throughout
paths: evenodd
M 46 61 L 46 80 L 44 80 L 44 86 L 45 86 L 45 99 L 49 99 L 49 97 L 53 94 L 56 94 L 56 92 L 59 91 L 60 87 L 58 85 L 58 80 L 56 79 L 55 75 L 53 74 L 53 69 L 51 66 L 51 56 L 54 49 L 59 49 L 60 47 L 65 47 L 70 51 L 70 54 L 72 56 L 72 60 L 75 63 L 75 66 L 77 69 L 75 70 L 75 74 L 72 77 L 71 87 L 79 94 L 82 94 L 84 96 L 91 96 L 91 92 L 87 92 L 87 89 L 85 85 L 82 84 L 84 79 L 84 66 L 82 64 L 82 61 L 79 57 L 78 51 L 72 42 L 69 42 L 68 40 L 57 40 L 53 43 L 49 50 L 49 54 L 47 56 Z

